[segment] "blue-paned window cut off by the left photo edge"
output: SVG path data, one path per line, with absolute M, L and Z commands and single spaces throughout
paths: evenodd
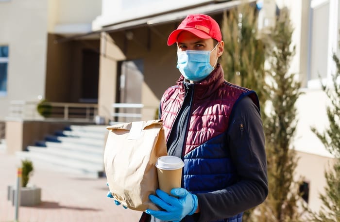
M 0 96 L 7 95 L 8 46 L 0 46 Z

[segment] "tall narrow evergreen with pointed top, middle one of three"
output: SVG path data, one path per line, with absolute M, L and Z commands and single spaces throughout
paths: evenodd
M 295 103 L 301 95 L 301 83 L 289 67 L 295 55 L 292 46 L 292 25 L 289 10 L 280 11 L 275 27 L 268 36 L 267 72 L 271 112 L 264 122 L 266 154 L 268 163 L 269 195 L 257 210 L 256 221 L 290 222 L 299 221 L 303 204 L 299 192 L 299 181 L 294 180 L 298 158 L 292 145 L 297 119 Z

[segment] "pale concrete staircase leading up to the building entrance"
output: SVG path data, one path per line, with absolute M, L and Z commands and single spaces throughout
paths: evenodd
M 103 154 L 108 130 L 105 126 L 75 126 L 46 135 L 44 141 L 17 152 L 20 159 L 31 159 L 52 170 L 85 177 L 104 175 Z

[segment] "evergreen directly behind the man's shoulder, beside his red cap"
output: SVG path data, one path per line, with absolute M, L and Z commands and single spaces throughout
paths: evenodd
M 253 89 L 264 107 L 265 46 L 257 33 L 257 13 L 254 5 L 241 4 L 224 12 L 221 25 L 224 52 L 221 64 L 224 78 L 234 84 Z M 262 110 L 261 110 L 262 111 Z M 264 117 L 264 112 L 261 112 Z

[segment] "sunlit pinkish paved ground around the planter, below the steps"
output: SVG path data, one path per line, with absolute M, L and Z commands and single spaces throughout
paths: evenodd
M 19 222 L 137 222 L 142 212 L 116 206 L 106 197 L 106 179 L 85 178 L 33 163 L 29 183 L 41 188 L 39 206 L 20 206 Z M 0 150 L 0 222 L 14 222 L 7 186 L 16 184 L 20 159 Z

